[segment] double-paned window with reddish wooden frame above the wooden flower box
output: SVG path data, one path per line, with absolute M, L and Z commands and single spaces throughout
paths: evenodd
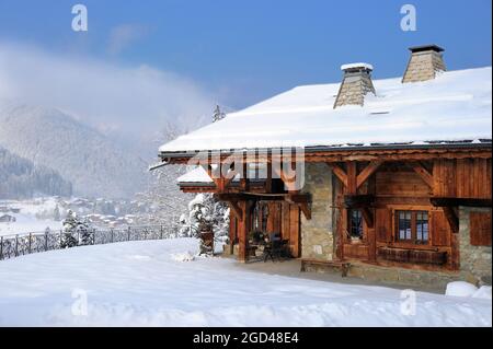
M 427 211 L 395 211 L 397 240 L 427 244 L 429 236 Z

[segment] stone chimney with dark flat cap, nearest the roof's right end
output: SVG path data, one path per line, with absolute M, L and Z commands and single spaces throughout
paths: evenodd
M 436 45 L 410 47 L 411 58 L 405 69 L 402 82 L 433 80 L 438 71 L 446 71 L 444 49 Z

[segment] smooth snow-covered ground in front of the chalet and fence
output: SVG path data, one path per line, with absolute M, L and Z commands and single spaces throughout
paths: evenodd
M 242 270 L 192 239 L 0 261 L 0 326 L 491 326 L 492 301 Z M 486 292 L 488 293 L 488 292 Z M 404 312 L 402 311 L 404 309 Z

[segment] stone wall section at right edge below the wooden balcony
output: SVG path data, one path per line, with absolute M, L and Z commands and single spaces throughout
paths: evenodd
M 490 212 L 484 208 L 459 208 L 460 271 L 466 281 L 491 284 L 491 246 L 472 246 L 470 243 L 470 212 Z

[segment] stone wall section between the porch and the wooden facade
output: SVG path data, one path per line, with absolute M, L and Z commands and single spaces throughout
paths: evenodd
M 332 260 L 334 234 L 332 172 L 326 164 L 307 163 L 303 193 L 311 195 L 311 220 L 301 214 L 301 257 Z

